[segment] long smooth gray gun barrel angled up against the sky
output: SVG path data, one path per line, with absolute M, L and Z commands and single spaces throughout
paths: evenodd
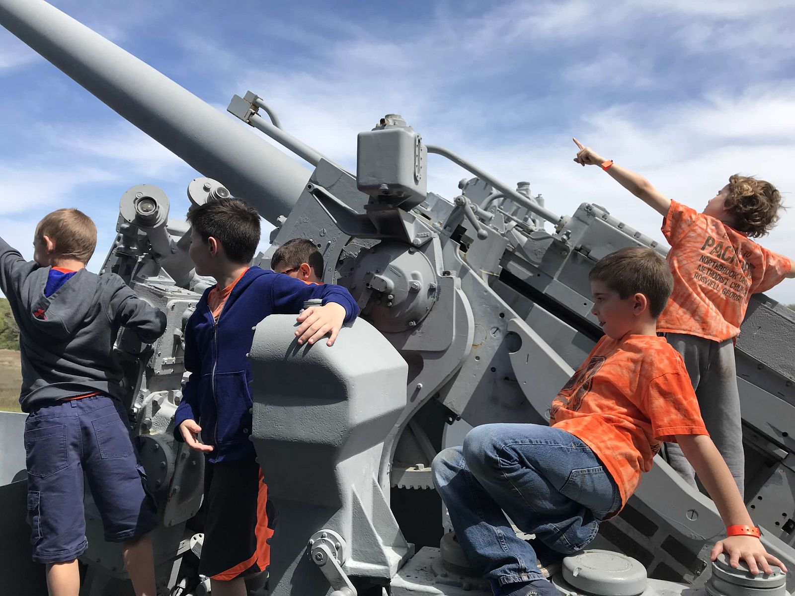
M 308 169 L 148 64 L 43 0 L 0 0 L 0 25 L 271 223 L 292 211 Z

